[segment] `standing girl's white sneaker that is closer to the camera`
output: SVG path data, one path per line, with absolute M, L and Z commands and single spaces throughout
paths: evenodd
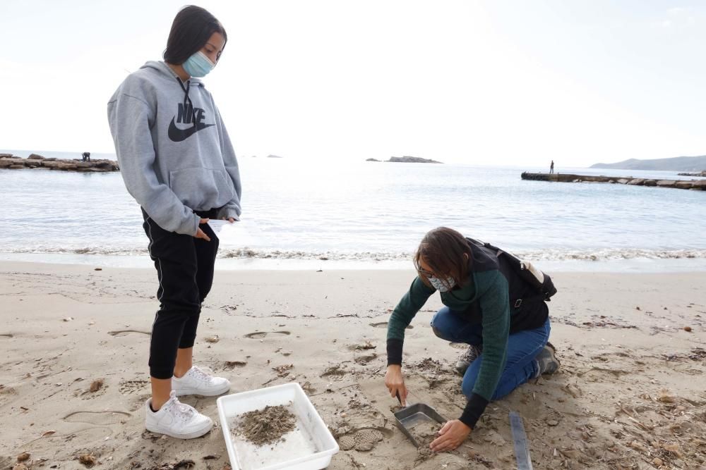
M 199 413 L 188 404 L 179 402 L 174 390 L 169 394 L 169 401 L 153 412 L 150 408 L 152 399 L 145 402 L 145 428 L 151 433 L 166 434 L 177 439 L 193 439 L 208 433 L 213 421 Z

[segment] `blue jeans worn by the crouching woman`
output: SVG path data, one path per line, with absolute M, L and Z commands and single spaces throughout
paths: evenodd
M 480 324 L 469 323 L 462 314 L 448 307 L 443 307 L 434 315 L 431 319 L 431 328 L 434 334 L 443 340 L 465 342 L 474 346 L 481 346 L 483 343 L 483 327 Z M 539 365 L 534 358 L 549 340 L 550 330 L 548 317 L 544 325 L 539 328 L 518 331 L 508 337 L 508 359 L 491 400 L 498 400 L 508 395 L 530 378 L 537 376 Z M 467 398 L 471 397 L 482 361 L 483 354 L 471 363 L 463 376 L 461 390 Z

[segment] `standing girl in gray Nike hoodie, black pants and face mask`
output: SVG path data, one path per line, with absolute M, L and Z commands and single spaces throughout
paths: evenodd
M 121 174 L 142 206 L 159 280 L 145 428 L 182 439 L 208 433 L 213 421 L 177 396 L 230 390 L 226 378 L 192 364 L 218 249 L 208 220 L 232 223 L 241 211 L 235 152 L 213 97 L 198 80 L 216 66 L 226 42 L 211 13 L 186 6 L 174 18 L 164 61 L 149 61 L 128 75 L 108 102 Z

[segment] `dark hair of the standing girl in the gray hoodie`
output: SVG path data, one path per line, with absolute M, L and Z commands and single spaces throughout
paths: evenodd
M 169 31 L 167 49 L 162 54 L 164 62 L 181 65 L 200 51 L 214 32 L 220 32 L 228 41 L 225 28 L 208 10 L 194 5 L 181 8 Z

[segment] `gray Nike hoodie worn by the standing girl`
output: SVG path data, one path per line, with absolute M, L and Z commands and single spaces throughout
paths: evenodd
M 196 235 L 193 211 L 240 216 L 238 161 L 200 80 L 145 63 L 108 102 L 108 123 L 128 192 L 164 230 Z

